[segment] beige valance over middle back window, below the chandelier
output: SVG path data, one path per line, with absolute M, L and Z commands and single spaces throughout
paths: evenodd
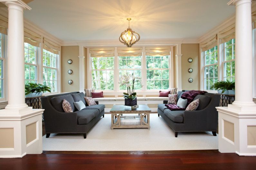
M 142 56 L 142 47 L 118 47 L 117 48 L 117 55 L 120 57 L 126 56 Z

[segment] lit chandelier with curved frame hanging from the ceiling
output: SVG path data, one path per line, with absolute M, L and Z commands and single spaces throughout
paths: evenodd
M 135 44 L 137 41 L 139 41 L 140 36 L 137 32 L 133 31 L 130 28 L 130 18 L 127 18 L 127 20 L 129 21 L 129 27 L 127 30 L 125 30 L 124 32 L 121 33 L 120 37 L 119 37 L 119 41 L 121 43 L 123 43 L 124 45 L 126 45 L 127 47 L 132 47 L 133 44 Z M 137 35 L 137 37 L 136 37 Z

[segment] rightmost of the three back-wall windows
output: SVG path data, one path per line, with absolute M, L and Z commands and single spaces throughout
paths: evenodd
M 169 88 L 169 55 L 146 55 L 147 89 Z

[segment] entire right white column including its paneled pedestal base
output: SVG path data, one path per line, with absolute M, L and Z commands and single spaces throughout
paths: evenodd
M 256 105 L 252 101 L 251 0 L 232 0 L 235 5 L 235 101 L 216 107 L 219 119 L 219 151 L 256 156 Z

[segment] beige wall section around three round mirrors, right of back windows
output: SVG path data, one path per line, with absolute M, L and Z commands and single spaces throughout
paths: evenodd
M 182 89 L 183 90 L 199 90 L 200 75 L 199 75 L 199 44 L 182 44 L 181 45 L 181 68 L 182 68 Z M 188 58 L 192 58 L 193 62 L 189 63 Z M 192 73 L 187 70 L 193 69 Z M 192 78 L 193 82 L 189 83 L 188 78 Z

